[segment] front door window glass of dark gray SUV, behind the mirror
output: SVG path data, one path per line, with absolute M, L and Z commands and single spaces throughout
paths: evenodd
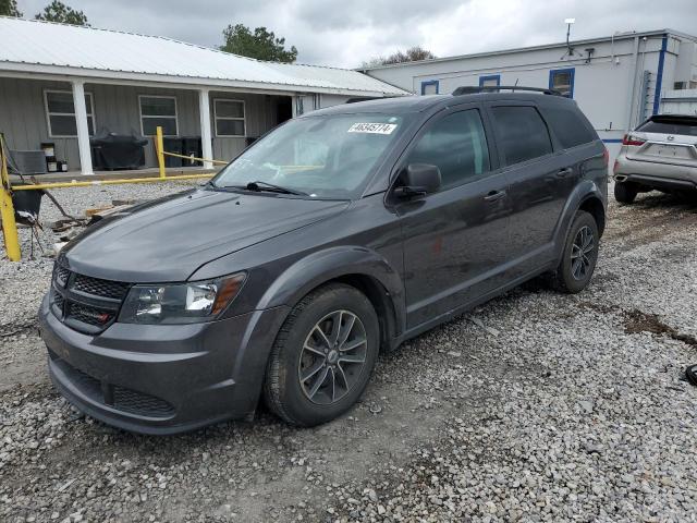
M 442 188 L 481 178 L 489 171 L 489 147 L 479 111 L 453 112 L 438 120 L 418 139 L 407 163 L 438 166 Z

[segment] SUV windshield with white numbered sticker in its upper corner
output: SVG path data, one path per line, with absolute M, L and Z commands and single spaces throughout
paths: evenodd
M 291 120 L 211 181 L 213 187 L 285 188 L 313 198 L 358 197 L 400 134 L 402 117 L 337 114 Z

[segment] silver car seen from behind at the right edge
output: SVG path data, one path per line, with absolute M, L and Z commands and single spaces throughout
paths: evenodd
M 649 118 L 622 141 L 613 172 L 614 197 L 623 204 L 653 190 L 697 196 L 697 117 Z

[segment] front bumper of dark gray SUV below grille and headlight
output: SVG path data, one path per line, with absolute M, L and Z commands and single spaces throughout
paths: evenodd
M 189 325 L 111 325 L 98 336 L 62 324 L 44 299 L 49 373 L 76 408 L 142 434 L 192 430 L 254 412 L 286 307 Z

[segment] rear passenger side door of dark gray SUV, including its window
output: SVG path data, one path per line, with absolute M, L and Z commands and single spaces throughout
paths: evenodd
M 553 258 L 553 233 L 576 184 L 577 166 L 554 150 L 538 108 L 526 101 L 488 105 L 512 206 L 509 276 L 523 277 Z

